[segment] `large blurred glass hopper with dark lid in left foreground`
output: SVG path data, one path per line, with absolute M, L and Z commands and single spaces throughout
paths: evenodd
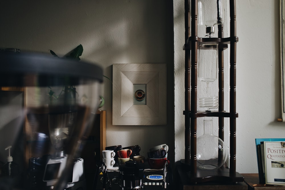
M 77 181 L 74 175 L 83 170 L 78 163 L 83 164 L 79 158 L 99 106 L 102 69 L 83 61 L 22 52 L 0 52 L 0 66 L 0 86 L 25 89 L 0 91 L 1 113 L 9 113 L 15 98 L 20 99 L 17 122 L 0 122 L 0 144 L 12 145 L 21 176 L 0 175 L 0 189 L 62 190 L 82 185 L 84 173 Z

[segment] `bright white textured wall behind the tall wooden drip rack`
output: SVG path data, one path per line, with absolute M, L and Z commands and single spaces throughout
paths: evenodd
M 236 11 L 236 170 L 258 173 L 255 138 L 284 138 L 285 134 L 285 124 L 276 121 L 281 118 L 279 1 L 237 0 Z M 184 158 L 183 44 L 184 1 L 180 0 L 174 1 L 176 161 Z

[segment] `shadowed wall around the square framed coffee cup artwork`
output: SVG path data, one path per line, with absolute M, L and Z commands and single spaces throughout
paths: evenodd
M 174 160 L 172 12 L 172 1 L 163 0 L 5 1 L 0 6 L 0 48 L 53 50 L 63 56 L 82 44 L 81 60 L 99 64 L 109 78 L 112 64 L 166 63 L 166 126 L 113 126 L 112 85 L 105 78 L 101 109 L 107 111 L 107 146 L 139 144 L 141 155 L 147 156 L 149 148 L 166 143 Z

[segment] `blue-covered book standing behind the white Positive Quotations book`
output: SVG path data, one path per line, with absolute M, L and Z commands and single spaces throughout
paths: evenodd
M 264 141 L 285 141 L 285 138 L 256 138 L 255 139 L 259 184 L 265 184 L 264 156 L 262 156 L 264 153 L 264 148 L 261 148 L 261 146 L 263 146 Z

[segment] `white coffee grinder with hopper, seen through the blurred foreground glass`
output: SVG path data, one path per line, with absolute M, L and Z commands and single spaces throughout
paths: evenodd
M 64 87 L 66 88 L 66 87 Z M 69 88 L 69 87 L 68 87 Z M 66 90 L 65 90 L 66 91 Z M 50 156 L 45 170 L 43 181 L 46 186 L 54 186 L 56 178 L 62 175 L 62 171 L 68 160 L 68 146 L 70 146 L 70 138 L 76 126 L 80 125 L 77 122 L 82 122 L 78 117 L 78 107 L 75 106 L 76 94 L 75 89 L 68 92 L 68 106 L 63 109 L 56 109 L 48 113 L 48 129 L 51 144 L 54 148 L 54 153 Z M 80 116 L 82 118 L 83 116 Z M 84 160 L 82 158 L 73 158 L 74 166 L 68 172 L 66 187 L 70 189 L 82 190 L 86 189 L 86 181 L 84 176 Z

